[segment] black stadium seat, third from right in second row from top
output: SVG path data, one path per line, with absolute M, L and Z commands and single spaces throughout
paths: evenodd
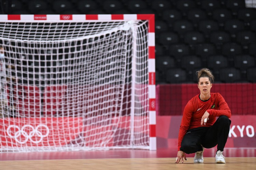
M 187 12 L 187 18 L 193 23 L 198 23 L 200 20 L 206 19 L 206 13 L 200 8 L 193 8 Z

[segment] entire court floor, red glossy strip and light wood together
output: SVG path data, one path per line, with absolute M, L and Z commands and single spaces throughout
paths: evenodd
M 203 164 L 193 163 L 195 154 L 186 154 L 184 164 L 175 164 L 176 149 L 6 152 L 0 153 L 0 170 L 256 170 L 256 148 L 225 148 L 226 164 L 216 164 L 215 153 L 216 148 L 205 149 Z

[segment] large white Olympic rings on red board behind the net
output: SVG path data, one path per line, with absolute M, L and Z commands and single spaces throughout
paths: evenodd
M 42 134 L 42 132 L 40 130 L 38 130 L 40 127 L 45 128 L 46 133 L 44 135 Z M 17 131 L 14 131 L 14 135 L 11 134 L 11 128 L 17 129 Z M 30 130 L 29 133 L 27 132 L 28 129 Z M 8 136 L 15 139 L 20 144 L 24 144 L 28 140 L 30 140 L 32 143 L 39 143 L 43 140 L 44 137 L 49 135 L 49 128 L 44 124 L 39 124 L 35 128 L 30 124 L 25 124 L 24 126 L 22 126 L 21 129 L 17 125 L 10 125 L 7 128 L 7 134 L 8 134 Z M 35 135 L 37 137 L 39 137 L 39 140 L 33 140 L 32 139 L 32 137 L 35 136 Z M 25 140 L 20 141 L 19 139 L 21 139 L 22 136 L 25 137 Z

